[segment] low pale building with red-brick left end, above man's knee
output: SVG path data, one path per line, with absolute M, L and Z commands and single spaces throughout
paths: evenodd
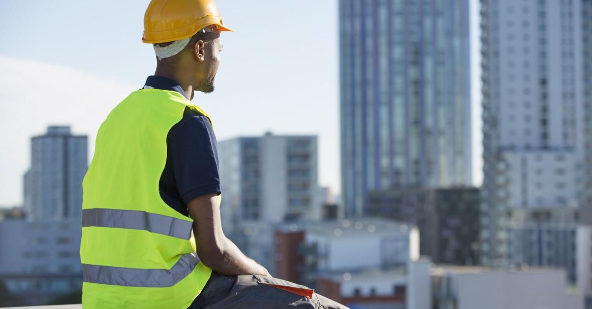
M 419 242 L 417 226 L 386 219 L 284 223 L 274 237 L 276 276 L 314 287 L 321 276 L 347 279 L 373 269 L 404 268 L 419 259 Z

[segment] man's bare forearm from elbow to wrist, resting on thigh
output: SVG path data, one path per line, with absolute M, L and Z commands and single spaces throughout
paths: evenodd
M 240 249 L 231 242 L 230 239 L 224 237 L 221 244 L 220 258 L 211 261 L 211 265 L 207 265 L 215 272 L 227 276 L 237 275 L 261 275 L 269 276 L 269 272 L 265 267 L 259 265 L 255 260 L 247 257 L 240 251 Z

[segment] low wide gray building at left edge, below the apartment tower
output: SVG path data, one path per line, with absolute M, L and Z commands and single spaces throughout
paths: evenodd
M 0 284 L 12 298 L 0 305 L 45 305 L 82 291 L 80 220 L 0 220 Z

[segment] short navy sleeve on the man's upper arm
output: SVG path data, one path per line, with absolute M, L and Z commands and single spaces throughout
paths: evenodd
M 186 110 L 168 138 L 176 186 L 185 204 L 201 195 L 220 194 L 218 147 L 210 120 Z

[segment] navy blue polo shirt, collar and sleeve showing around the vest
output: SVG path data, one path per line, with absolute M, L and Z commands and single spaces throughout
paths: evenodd
M 187 98 L 179 83 L 163 76 L 149 76 L 146 88 L 177 91 Z M 159 189 L 163 201 L 183 215 L 188 215 L 191 199 L 220 194 L 216 137 L 210 120 L 200 112 L 185 108 L 181 121 L 170 128 Z

